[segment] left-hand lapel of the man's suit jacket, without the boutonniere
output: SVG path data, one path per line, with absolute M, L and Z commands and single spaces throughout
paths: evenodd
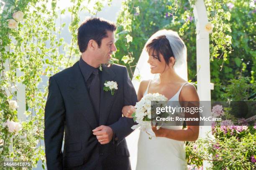
M 69 87 L 71 88 L 69 93 L 77 103 L 77 109 L 83 113 L 84 118 L 92 129 L 95 129 L 98 127 L 98 122 L 78 62 L 73 65 L 72 69 L 73 74 L 69 83 Z

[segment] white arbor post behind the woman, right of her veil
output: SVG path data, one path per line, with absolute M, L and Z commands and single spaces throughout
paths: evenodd
M 213 84 L 210 83 L 210 45 L 209 33 L 205 30 L 205 25 L 208 23 L 207 11 L 203 0 L 196 0 L 194 7 L 194 16 L 196 20 L 197 32 L 197 92 L 200 101 L 204 102 L 204 115 L 211 114 L 211 89 Z M 211 131 L 211 126 L 200 127 L 200 137 L 205 138 L 206 133 Z M 209 162 L 203 163 L 204 168 L 210 167 Z

